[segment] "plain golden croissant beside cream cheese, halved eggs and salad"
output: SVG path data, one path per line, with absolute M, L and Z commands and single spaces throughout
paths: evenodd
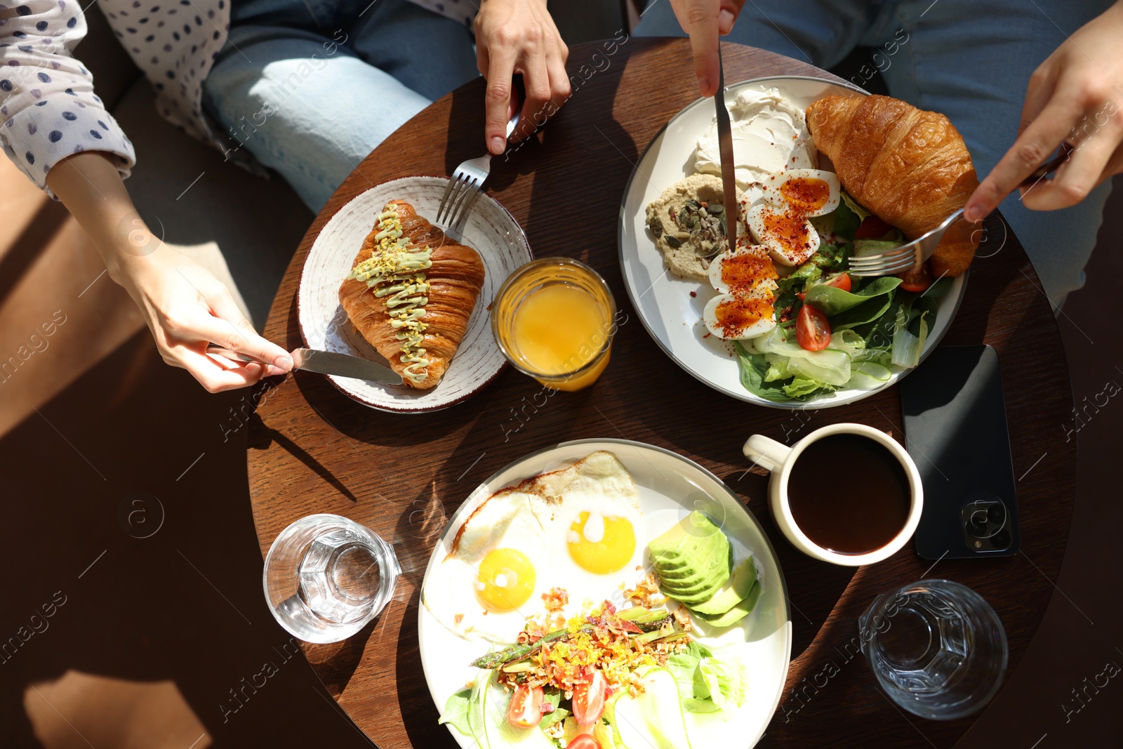
M 964 138 L 948 118 L 889 97 L 827 97 L 807 107 L 807 127 L 855 200 L 909 239 L 931 231 L 978 186 Z M 975 227 L 957 221 L 930 261 L 959 275 L 975 257 Z

